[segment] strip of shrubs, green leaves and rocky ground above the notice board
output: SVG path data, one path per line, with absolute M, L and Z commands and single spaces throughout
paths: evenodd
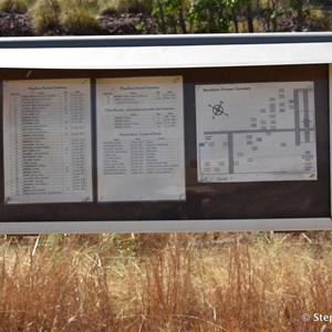
M 330 30 L 330 0 L 1 0 L 1 35 Z

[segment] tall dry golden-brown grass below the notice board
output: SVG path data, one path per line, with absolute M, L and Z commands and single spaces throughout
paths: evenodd
M 331 331 L 329 232 L 1 239 L 0 331 Z M 38 242 L 37 242 L 38 241 Z

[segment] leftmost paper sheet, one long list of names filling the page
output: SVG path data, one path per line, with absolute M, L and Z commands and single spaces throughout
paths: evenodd
M 92 200 L 90 80 L 3 84 L 4 201 Z

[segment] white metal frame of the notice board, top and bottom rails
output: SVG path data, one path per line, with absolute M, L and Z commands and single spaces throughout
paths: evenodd
M 0 39 L 0 59 L 2 69 L 28 70 L 185 69 L 324 63 L 329 64 L 330 132 L 332 129 L 332 33 L 6 38 Z M 330 148 L 332 155 L 331 135 Z M 1 234 L 318 229 L 331 230 L 332 218 L 0 222 Z

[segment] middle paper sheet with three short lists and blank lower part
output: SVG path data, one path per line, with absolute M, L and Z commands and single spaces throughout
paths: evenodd
M 181 76 L 96 82 L 98 201 L 184 200 Z

